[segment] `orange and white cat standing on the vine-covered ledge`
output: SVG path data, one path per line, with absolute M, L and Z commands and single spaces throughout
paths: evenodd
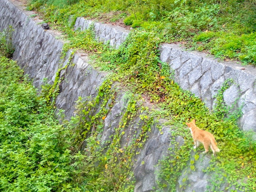
M 209 146 L 212 149 L 214 156 L 216 152 L 220 152 L 220 149 L 217 147 L 212 133 L 199 129 L 196 126 L 195 119 L 193 119 L 192 122 L 186 124 L 188 125 L 188 128 L 190 129 L 192 137 L 194 139 L 194 149 L 198 147 L 200 143 L 203 143 L 205 149 L 204 153 L 207 153 L 209 151 Z

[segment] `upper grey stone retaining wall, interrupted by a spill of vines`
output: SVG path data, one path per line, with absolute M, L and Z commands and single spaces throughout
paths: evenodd
M 91 20 L 77 18 L 75 29 L 93 23 Z M 114 30 L 122 36 L 116 47 L 120 45 L 128 35 L 120 28 L 94 23 L 95 38 L 107 42 L 112 37 Z M 117 32 L 116 32 L 117 31 Z M 110 40 L 110 45 L 112 43 Z M 117 42 L 117 41 L 116 41 Z M 117 46 L 118 44 L 118 46 Z M 215 97 L 222 84 L 227 79 L 233 79 L 232 84 L 224 92 L 224 102 L 227 106 L 233 106 L 233 111 L 242 109 L 242 117 L 238 124 L 243 130 L 256 132 L 256 68 L 253 66 L 242 66 L 235 62 L 219 62 L 212 56 L 196 51 L 188 52 L 178 44 L 162 44 L 160 47 L 160 60 L 169 63 L 174 72 L 174 80 L 182 89 L 189 90 L 201 98 L 205 105 L 212 109 L 215 105 Z

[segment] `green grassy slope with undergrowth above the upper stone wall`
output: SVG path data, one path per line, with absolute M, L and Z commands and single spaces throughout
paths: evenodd
M 254 0 L 30 0 L 47 20 L 64 24 L 70 15 L 157 31 L 162 42 L 182 42 L 222 59 L 256 64 Z

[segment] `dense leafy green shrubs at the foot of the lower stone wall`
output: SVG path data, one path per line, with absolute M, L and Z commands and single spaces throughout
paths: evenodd
M 0 190 L 79 191 L 70 131 L 16 62 L 1 57 L 0 63 Z

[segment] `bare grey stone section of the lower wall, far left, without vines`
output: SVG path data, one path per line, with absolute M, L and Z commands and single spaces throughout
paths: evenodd
M 19 11 L 12 3 L 0 1 L 0 31 L 12 26 L 13 60 L 33 79 L 37 88 L 48 78 L 52 83 L 59 67 L 62 43 Z

